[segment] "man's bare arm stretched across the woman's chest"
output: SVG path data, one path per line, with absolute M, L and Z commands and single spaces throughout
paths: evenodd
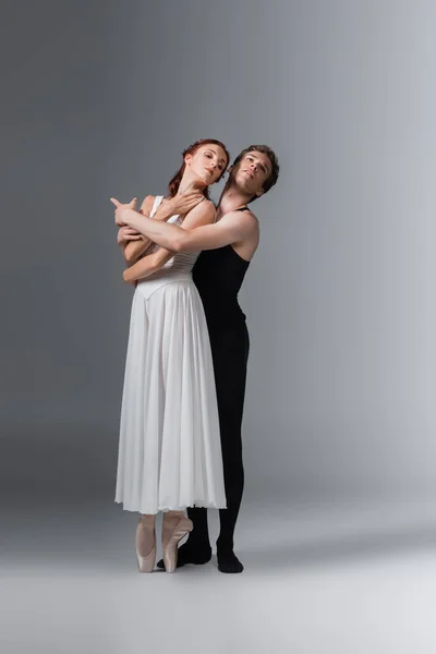
M 205 225 L 196 229 L 189 229 L 187 226 L 181 229 L 177 225 L 155 222 L 129 208 L 120 209 L 120 219 L 158 245 L 173 252 L 216 250 L 244 242 L 258 234 L 258 221 L 251 211 L 230 211 L 215 225 Z

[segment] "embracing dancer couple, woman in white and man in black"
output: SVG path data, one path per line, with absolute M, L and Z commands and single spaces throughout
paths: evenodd
M 277 182 L 265 145 L 234 159 L 207 138 L 183 153 L 168 195 L 116 205 L 118 242 L 135 284 L 121 409 L 116 501 L 141 513 L 136 559 L 152 572 L 164 511 L 167 572 L 211 558 L 207 509 L 219 509 L 218 569 L 242 572 L 233 534 L 242 499 L 241 424 L 249 332 L 238 303 L 259 241 L 249 205 Z M 208 187 L 229 178 L 218 207 Z M 187 509 L 187 517 L 185 510 Z M 186 543 L 179 542 L 189 534 Z

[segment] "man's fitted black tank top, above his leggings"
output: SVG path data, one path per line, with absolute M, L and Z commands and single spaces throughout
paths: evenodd
M 249 210 L 247 207 L 237 209 Z M 204 250 L 198 256 L 193 279 L 198 289 L 209 329 L 239 326 L 245 323 L 238 293 L 245 277 L 250 262 L 225 245 L 217 250 Z

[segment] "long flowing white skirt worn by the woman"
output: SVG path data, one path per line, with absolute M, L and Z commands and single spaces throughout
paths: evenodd
M 133 296 L 116 501 L 141 513 L 226 508 L 202 300 L 191 276 L 162 281 Z

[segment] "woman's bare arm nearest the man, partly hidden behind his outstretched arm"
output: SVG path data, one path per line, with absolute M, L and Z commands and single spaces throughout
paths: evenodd
M 202 226 L 210 225 L 215 219 L 215 207 L 211 202 L 202 202 L 198 206 L 192 209 L 186 218 L 183 220 L 180 229 L 186 231 L 191 229 L 198 229 Z M 152 219 L 153 221 L 153 219 Z M 171 226 L 169 226 L 171 227 Z M 165 264 L 174 256 L 174 251 L 167 247 L 159 247 L 159 250 L 138 262 L 133 264 L 130 268 L 126 268 L 123 272 L 124 281 L 136 281 L 144 279 L 156 270 L 159 270 Z

